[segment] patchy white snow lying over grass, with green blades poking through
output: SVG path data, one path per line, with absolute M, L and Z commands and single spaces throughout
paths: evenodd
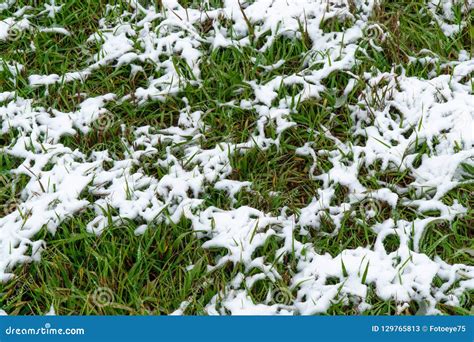
M 184 217 L 202 239 L 203 248 L 226 250 L 209 265 L 210 271 L 228 264 L 243 265 L 244 273 L 209 302 L 208 314 L 306 315 L 326 312 L 336 302 L 364 311 L 370 307 L 366 301 L 370 289 L 382 300 L 396 301 L 400 310 L 413 301 L 419 312 L 426 314 L 437 313 L 438 303 L 459 305 L 463 292 L 474 289 L 474 267 L 431 259 L 420 252 L 419 244 L 428 225 L 449 224 L 468 210 L 456 201 L 443 201 L 444 195 L 464 182 L 461 164 L 472 164 L 474 157 L 470 84 L 474 60 L 467 52 L 462 51 L 459 60 L 441 65 L 440 72 L 431 73 L 430 79 L 407 76 L 403 66 L 390 72 L 372 68 L 370 73 L 356 75 L 360 56 L 368 56 L 370 51 L 383 53 L 376 38 L 383 40 L 385 34 L 368 20 L 374 1 L 226 0 L 217 8 L 207 1 L 189 8 L 174 0 L 162 3 L 160 9 L 133 1 L 126 6 L 108 5 L 108 16 L 100 20 L 99 31 L 86 42 L 99 44 L 100 49 L 91 53 L 83 69 L 39 75 L 24 70 L 17 61 L 2 60 L 0 71 L 14 84 L 0 93 L 0 129 L 7 141 L 2 153 L 20 160 L 11 172 L 16 177 L 25 175 L 29 181 L 18 204 L 0 218 L 0 280 L 12 279 L 15 266 L 40 260 L 46 242 L 36 238 L 38 232 L 47 229 L 54 234 L 67 218 L 89 209 L 95 217 L 87 230 L 94 234 L 107 229 L 110 220 L 134 220 L 136 234 L 142 234 L 153 225 L 177 223 Z M 447 35 L 456 30 L 449 24 L 454 15 L 451 3 L 427 2 Z M 1 12 L 13 12 L 0 23 L 2 40 L 11 39 L 13 28 L 35 34 L 30 23 L 33 12 L 54 16 L 61 10 L 54 2 L 41 9 L 13 9 L 13 5 L 7 2 L 0 7 Z M 344 23 L 342 29 L 326 32 L 322 27 L 334 20 Z M 208 29 L 203 29 L 206 25 Z M 60 28 L 41 30 L 68 33 Z M 371 32 L 380 34 L 374 38 Z M 282 36 L 311 44 L 304 68 L 285 74 L 278 72 L 284 60 L 263 65 L 272 78 L 245 80 L 251 96 L 221 104 L 256 113 L 251 137 L 246 142 L 222 140 L 203 147 L 209 129 L 204 113 L 195 110 L 183 92 L 187 85 L 202 86 L 203 58 L 212 50 L 230 47 L 264 53 Z M 179 68 L 176 59 L 185 63 L 188 72 Z M 82 94 L 82 102 L 72 112 L 38 104 L 41 97 L 50 96 L 48 87 L 53 84 L 87 82 L 105 66 L 124 65 L 130 66 L 132 76 L 145 74 L 146 85 L 120 98 Z M 23 83 L 16 79 L 20 71 L 27 74 L 35 94 L 41 95 L 19 95 Z M 239 158 L 252 148 L 278 148 L 281 135 L 297 125 L 292 120 L 299 110 L 297 104 L 321 100 L 327 90 L 325 80 L 336 72 L 349 78 L 341 89 L 339 105 L 345 105 L 359 85 L 357 100 L 346 104 L 356 143 L 338 137 L 321 122 L 321 130 L 315 134 L 324 135 L 332 147 L 319 149 L 314 141 L 308 141 L 295 151 L 312 165 L 308 177 L 321 184 L 310 203 L 297 214 L 281 208 L 278 215 L 239 206 L 235 195 L 242 189 L 252 191 L 252 184 L 229 178 L 233 171 L 230 158 Z M 282 87 L 290 86 L 298 86 L 296 96 L 279 95 Z M 165 103 L 170 96 L 183 103 L 175 126 L 122 125 L 124 132 L 133 133 L 132 142 L 123 138 L 126 148 L 122 159 L 107 150 L 85 153 L 62 143 L 66 136 L 103 129 L 97 122 L 114 117 L 106 109 L 108 103 L 141 106 L 149 101 Z M 270 126 L 276 128 L 275 136 L 268 135 Z M 318 167 L 320 159 L 329 161 L 331 167 Z M 148 175 L 145 160 L 153 160 L 166 175 Z M 369 176 L 376 170 L 407 176 L 403 185 L 378 179 L 376 187 L 367 187 L 361 181 L 362 170 L 369 170 L 364 171 Z M 347 196 L 337 196 L 338 187 L 347 189 Z M 232 209 L 206 207 L 203 199 L 212 189 L 225 191 Z M 412 220 L 388 217 L 374 221 L 374 208 L 367 206 L 372 202 L 392 209 L 412 208 L 420 215 Z M 431 216 L 433 211 L 438 214 Z M 347 216 L 370 225 L 377 235 L 374 245 L 330 255 L 305 242 L 310 234 L 336 239 Z M 333 232 L 321 231 L 323 221 L 331 222 Z M 398 237 L 399 244 L 387 251 L 384 240 L 392 235 Z M 270 238 L 279 243 L 275 255 L 257 256 L 259 247 Z M 293 265 L 285 262 L 289 258 Z M 282 269 L 291 274 L 285 302 L 275 301 L 274 289 L 262 302 L 252 300 L 250 291 L 255 283 L 281 281 Z M 177 313 L 185 312 L 187 304 L 177 308 Z

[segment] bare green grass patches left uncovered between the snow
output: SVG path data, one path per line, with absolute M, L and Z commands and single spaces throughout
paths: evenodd
M 19 1 L 27 3 L 27 1 Z M 196 2 L 194 2 L 196 5 Z M 1 58 L 4 61 L 17 61 L 25 65 L 28 74 L 64 73 L 70 69 L 80 69 L 86 64 L 87 53 L 95 52 L 95 47 L 83 47 L 87 37 L 96 31 L 98 19 L 103 16 L 104 2 L 71 1 L 60 12 L 55 20 L 44 19 L 37 25 L 63 26 L 72 32 L 71 36 L 51 33 L 34 35 L 24 34 L 13 43 L 0 42 Z M 197 6 L 197 5 L 196 5 Z M 389 71 L 393 65 L 406 65 L 407 56 L 416 55 L 428 48 L 441 58 L 455 58 L 461 49 L 472 53 L 472 32 L 467 29 L 452 38 L 445 37 L 436 25 L 430 25 L 431 19 L 422 1 L 386 1 L 375 12 L 372 20 L 382 25 L 390 38 L 384 44 L 384 52 L 369 49 L 366 57 L 354 72 L 362 75 L 373 66 L 382 71 Z M 402 15 L 403 14 L 403 15 Z M 2 16 L 11 13 L 4 12 Z M 344 23 L 329 22 L 325 30 L 340 30 Z M 340 26 L 342 25 L 342 26 Z M 469 25 L 468 25 L 469 26 Z M 32 39 L 36 50 L 28 49 Z M 258 45 L 260 42 L 254 42 Z M 281 38 L 263 55 L 254 48 L 238 50 L 230 48 L 216 50 L 204 56 L 202 62 L 203 84 L 197 88 L 191 85 L 176 98 L 166 102 L 150 102 L 144 107 L 125 102 L 112 103 L 109 110 L 115 114 L 115 120 L 106 131 L 91 132 L 88 135 L 67 137 L 62 142 L 78 148 L 84 153 L 92 150 L 109 149 L 120 157 L 124 153 L 120 141 L 120 125 L 152 125 L 156 128 L 166 127 L 176 120 L 182 102 L 186 96 L 193 110 L 205 114 L 204 122 L 209 127 L 203 146 L 211 147 L 216 142 L 230 140 L 247 141 L 255 129 L 256 114 L 234 107 L 223 107 L 222 103 L 230 100 L 248 98 L 251 89 L 244 82 L 248 79 L 259 81 L 270 80 L 281 73 L 299 72 L 304 68 L 304 57 L 308 52 L 307 42 L 291 41 Z M 24 51 L 22 51 L 24 50 Z M 280 68 L 265 72 L 256 66 L 252 58 L 263 65 L 270 65 L 284 59 Z M 184 67 L 183 67 L 184 68 Z M 0 89 L 3 91 L 19 90 L 23 97 L 40 99 L 44 106 L 51 106 L 62 111 L 71 111 L 80 102 L 78 94 L 89 96 L 114 92 L 118 97 L 128 94 L 146 84 L 138 74 L 129 77 L 129 67 L 119 69 L 104 67 L 95 72 L 86 82 L 71 82 L 53 85 L 49 88 L 50 96 L 43 96 L 43 90 L 32 89 L 27 82 L 27 74 L 22 73 L 18 85 L 9 78 L 8 72 L 0 72 Z M 426 77 L 426 66 L 409 65 L 409 75 Z M 183 69 L 183 72 L 186 72 Z M 266 212 L 278 213 L 279 208 L 288 206 L 289 210 L 298 213 L 298 208 L 307 205 L 313 197 L 318 183 L 308 178 L 312 161 L 297 156 L 295 149 L 306 141 L 313 141 L 318 149 L 332 149 L 333 142 L 324 136 L 314 138 L 314 132 L 322 132 L 324 123 L 331 133 L 344 141 L 355 141 L 348 104 L 357 102 L 356 94 L 363 85 L 356 86 L 349 95 L 347 103 L 336 105 L 336 99 L 344 89 L 347 77 L 334 73 L 326 80 L 328 91 L 322 94 L 321 101 L 309 100 L 296 105 L 292 120 L 297 126 L 285 131 L 281 136 L 281 146 L 277 150 L 266 151 L 254 148 L 244 156 L 234 156 L 231 160 L 234 169 L 232 179 L 251 181 L 254 192 L 241 192 L 237 195 L 236 206 L 249 205 Z M 279 91 L 279 98 L 291 95 L 296 89 L 284 87 Z M 336 115 L 332 115 L 336 113 Z M 270 132 L 271 134 L 271 132 Z M 0 137 L 0 146 L 7 145 L 11 135 Z M 321 159 L 318 167 L 327 170 L 328 161 Z M 0 203 L 7 213 L 12 210 L 12 203 L 19 198 L 19 192 L 27 179 L 21 177 L 13 182 L 8 171 L 18 164 L 6 155 L 0 155 Z M 162 171 L 149 167 L 145 172 L 160 177 Z M 395 171 L 377 171 L 375 175 L 362 177 L 366 186 L 377 187 L 377 179 L 387 179 L 390 184 L 404 181 L 405 175 Z M 11 186 L 12 182 L 15 184 Z M 271 194 L 270 192 L 278 194 Z M 472 185 L 463 185 L 449 192 L 443 199 L 446 203 L 457 200 L 467 208 L 473 207 Z M 344 189 L 338 192 L 338 198 L 345 196 Z M 224 193 L 213 190 L 205 197 L 206 205 L 215 205 L 224 209 L 230 208 L 230 201 Z M 14 204 L 13 204 L 14 205 Z M 88 234 L 85 226 L 91 219 L 91 213 L 83 212 L 63 222 L 56 235 L 46 231 L 38 238 L 47 241 L 47 249 L 42 254 L 40 263 L 23 265 L 15 270 L 17 277 L 0 285 L 0 307 L 11 314 L 42 314 L 52 305 L 58 314 L 168 314 L 178 308 L 184 300 L 191 302 L 186 313 L 202 314 L 205 305 L 216 293 L 224 289 L 240 270 L 224 267 L 214 272 L 207 272 L 206 265 L 212 264 L 219 250 L 204 250 L 201 242 L 190 230 L 189 222 L 182 221 L 176 225 L 154 225 L 149 227 L 143 236 L 136 236 L 136 224 L 123 220 L 111 225 L 99 237 Z M 393 210 L 382 208 L 374 222 L 382 222 L 393 216 L 412 219 L 421 213 L 413 212 L 407 207 Z M 425 232 L 421 242 L 421 251 L 433 257 L 439 255 L 448 263 L 465 263 L 472 265 L 474 236 L 472 211 L 463 218 L 456 219 L 452 225 L 433 224 Z M 323 227 L 323 230 L 331 227 Z M 317 251 L 337 255 L 346 248 L 372 245 L 375 234 L 368 224 L 353 222 L 345 217 L 342 229 L 336 238 L 321 237 L 314 234 L 307 236 L 305 242 L 311 242 Z M 395 249 L 398 241 L 390 238 L 385 241 L 388 249 Z M 270 239 L 259 251 L 262 255 L 274 255 L 279 242 Z M 285 260 L 292 265 L 292 260 Z M 186 267 L 195 265 L 191 271 Z M 255 300 L 262 300 L 270 287 L 288 290 L 288 274 L 282 270 L 283 280 L 278 284 L 260 281 L 252 288 L 251 295 Z M 291 291 L 290 291 L 291 292 Z M 294 295 L 294 294 L 289 294 Z M 110 299 L 104 304 L 102 297 Z M 110 303 L 109 303 L 110 302 Z M 381 301 L 373 289 L 369 290 L 368 302 L 372 309 L 364 314 L 395 314 L 396 303 Z M 472 314 L 474 293 L 468 293 L 460 307 L 440 305 L 439 309 L 446 314 Z M 417 306 L 412 303 L 403 314 L 414 314 Z M 328 312 L 335 314 L 357 314 L 344 303 L 334 305 Z

